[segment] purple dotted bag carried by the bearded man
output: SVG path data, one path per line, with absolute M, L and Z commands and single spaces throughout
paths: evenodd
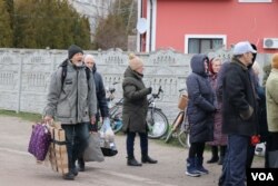
M 32 125 L 32 134 L 30 137 L 28 151 L 32 154 L 37 160 L 44 160 L 51 136 L 46 124 Z

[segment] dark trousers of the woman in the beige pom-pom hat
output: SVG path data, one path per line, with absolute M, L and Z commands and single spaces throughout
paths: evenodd
M 138 133 L 140 137 L 140 147 L 141 147 L 141 155 L 148 155 L 148 135 L 147 133 Z M 127 133 L 127 153 L 129 158 L 135 157 L 135 138 L 136 133 L 128 131 Z

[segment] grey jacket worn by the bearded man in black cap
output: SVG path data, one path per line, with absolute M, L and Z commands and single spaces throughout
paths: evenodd
M 93 76 L 87 80 L 85 66 L 76 67 L 70 61 L 67 77 L 61 85 L 62 67 L 52 74 L 44 115 L 61 124 L 88 123 L 97 112 L 97 97 Z

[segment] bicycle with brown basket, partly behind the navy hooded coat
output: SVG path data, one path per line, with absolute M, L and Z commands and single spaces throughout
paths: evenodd
M 182 147 L 189 148 L 190 147 L 189 125 L 188 125 L 187 115 L 186 115 L 188 96 L 187 94 L 182 94 L 185 90 L 186 88 L 179 90 L 180 100 L 183 99 L 183 102 L 179 102 L 179 106 L 178 106 L 179 112 L 170 127 L 170 130 L 165 139 L 165 143 L 169 143 L 172 137 L 176 137 L 178 138 L 179 144 Z

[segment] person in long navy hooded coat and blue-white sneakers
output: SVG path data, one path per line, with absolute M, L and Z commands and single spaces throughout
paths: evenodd
M 188 121 L 190 125 L 190 149 L 187 158 L 188 176 L 208 174 L 202 166 L 205 143 L 214 139 L 214 114 L 216 96 L 208 80 L 208 57 L 195 55 L 190 66 L 192 72 L 187 78 Z

